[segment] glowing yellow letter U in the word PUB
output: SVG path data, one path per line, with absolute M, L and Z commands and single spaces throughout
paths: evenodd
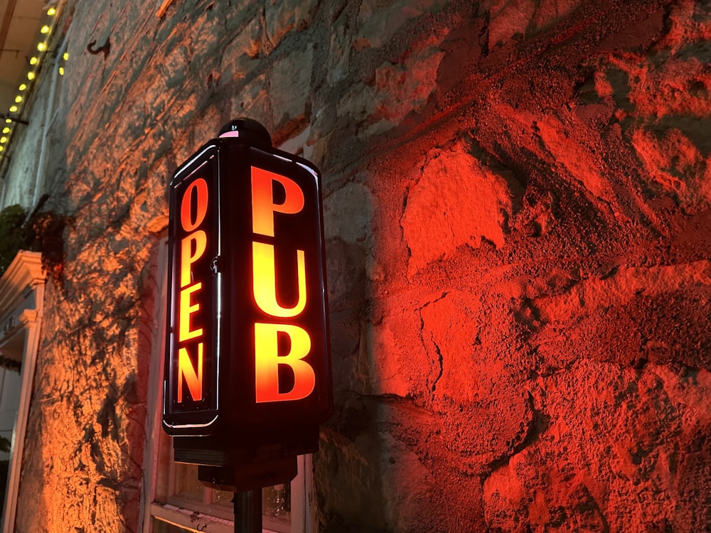
M 277 274 L 275 271 L 274 246 L 252 242 L 252 266 L 254 291 L 257 306 L 272 316 L 297 316 L 306 307 L 306 269 L 304 250 L 296 250 L 296 270 L 299 279 L 299 299 L 294 307 L 282 307 L 277 302 Z

